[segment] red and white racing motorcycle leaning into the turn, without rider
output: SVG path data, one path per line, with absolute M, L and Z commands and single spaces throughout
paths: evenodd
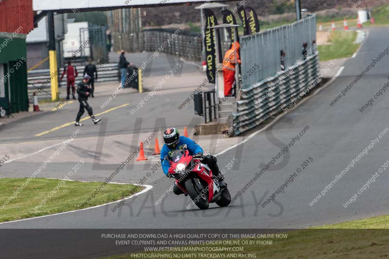
M 186 145 L 182 146 L 182 150 L 175 150 L 170 156 L 165 156 L 165 159 L 170 163 L 169 178 L 175 178 L 177 187 L 188 194 L 197 207 L 207 209 L 210 203 L 220 207 L 230 204 L 231 195 L 227 184 L 219 183 L 211 169 L 201 163 L 201 157 L 189 155 Z

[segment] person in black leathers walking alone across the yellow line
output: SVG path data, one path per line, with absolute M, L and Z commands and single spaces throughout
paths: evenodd
M 90 77 L 88 75 L 84 76 L 84 79 L 78 83 L 77 85 L 77 94 L 78 94 L 78 102 L 80 103 L 80 110 L 77 113 L 76 122 L 74 125 L 76 126 L 82 126 L 83 124 L 80 123 L 81 116 L 84 114 L 85 109 L 88 111 L 88 114 L 90 116 L 90 119 L 92 119 L 94 124 L 99 123 L 101 119 L 96 119 L 93 115 L 92 107 L 88 104 L 88 97 L 90 95 L 91 89 L 88 86 Z

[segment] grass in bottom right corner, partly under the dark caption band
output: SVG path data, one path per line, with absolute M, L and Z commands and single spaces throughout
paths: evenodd
M 238 245 L 243 252 L 238 254 L 256 255 L 246 258 L 380 258 L 388 257 L 389 216 L 373 217 L 339 224 L 323 225 L 309 229 L 284 232 L 286 238 L 241 239 L 240 241 L 270 241 L 272 244 Z M 220 247 L 204 245 L 201 247 Z M 222 245 L 236 247 L 237 245 Z M 153 252 L 158 258 L 185 258 L 188 252 Z M 228 254 L 237 252 L 214 252 L 218 257 L 235 258 Z M 149 253 L 150 254 L 150 253 Z M 213 254 L 210 252 L 209 254 Z M 177 256 L 179 255 L 179 257 Z M 131 258 L 130 254 L 106 257 L 105 259 Z M 140 257 L 139 257 L 140 258 Z M 151 258 L 151 257 L 150 257 Z M 156 257 L 157 258 L 157 257 Z M 198 258 L 198 257 L 197 257 Z M 236 257 L 236 258 L 245 258 Z

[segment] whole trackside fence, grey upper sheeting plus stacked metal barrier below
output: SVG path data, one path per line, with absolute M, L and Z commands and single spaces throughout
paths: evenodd
M 235 135 L 289 110 L 320 82 L 315 39 L 316 15 L 241 38 L 242 92 L 232 114 Z

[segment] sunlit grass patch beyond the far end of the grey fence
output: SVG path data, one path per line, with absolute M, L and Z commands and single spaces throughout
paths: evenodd
M 353 44 L 357 33 L 354 31 L 335 31 L 330 35 L 330 45 L 318 46 L 320 61 L 351 57 L 360 44 Z

